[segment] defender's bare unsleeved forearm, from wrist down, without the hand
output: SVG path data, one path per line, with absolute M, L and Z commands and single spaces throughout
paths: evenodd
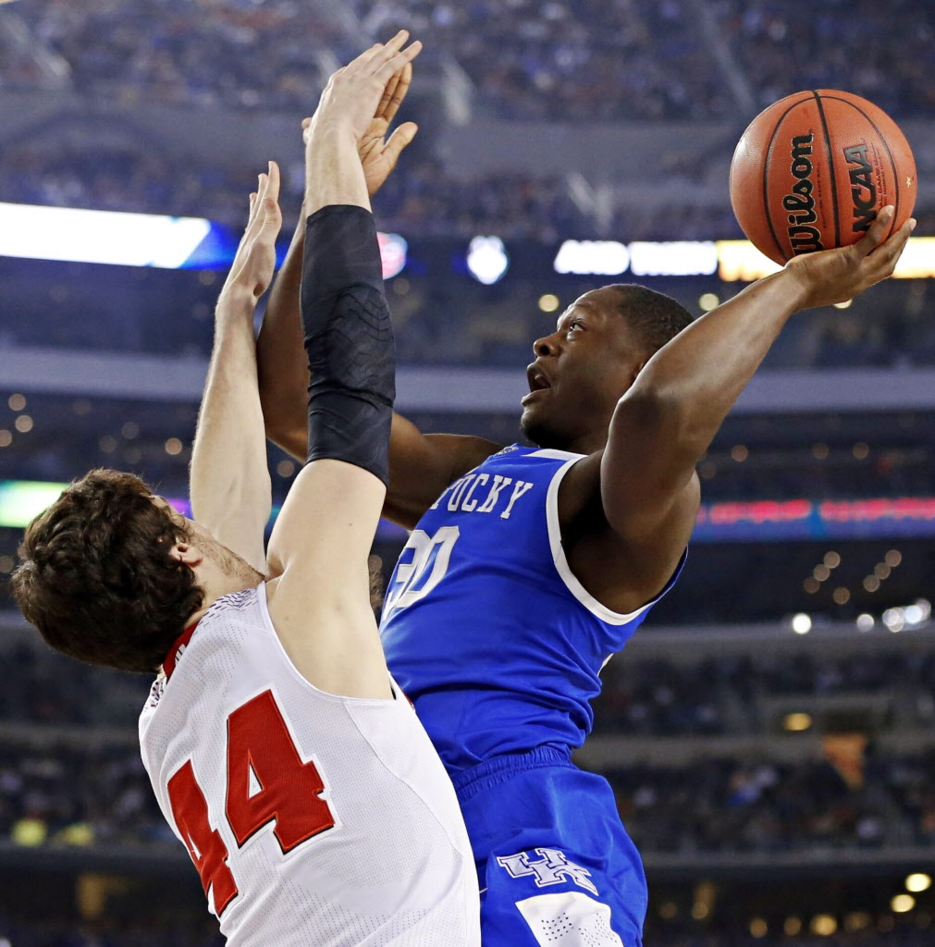
M 253 295 L 239 289 L 225 290 L 218 300 L 189 489 L 193 518 L 264 573 L 272 487 L 257 384 L 255 307 Z

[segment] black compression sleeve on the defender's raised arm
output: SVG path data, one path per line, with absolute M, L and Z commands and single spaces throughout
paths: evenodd
M 330 457 L 389 482 L 396 353 L 373 215 L 322 207 L 307 223 L 302 325 L 310 461 Z

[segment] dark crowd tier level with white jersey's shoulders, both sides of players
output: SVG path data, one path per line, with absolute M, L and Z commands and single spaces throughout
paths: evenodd
M 25 642 L 0 651 L 0 678 L 0 721 L 104 727 L 133 724 L 151 683 L 147 675 L 79 665 Z M 763 706 L 772 698 L 841 694 L 887 695 L 890 724 L 935 724 L 935 651 L 715 654 L 692 663 L 624 652 L 602 679 L 598 733 L 759 733 L 774 724 Z

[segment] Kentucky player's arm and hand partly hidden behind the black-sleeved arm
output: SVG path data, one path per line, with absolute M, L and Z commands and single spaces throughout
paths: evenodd
M 412 64 L 406 63 L 387 83 L 367 132 L 357 145 L 369 196 L 383 187 L 401 152 L 418 127 L 404 122 L 386 138 L 387 130 L 408 92 Z M 299 460 L 308 451 L 305 397 L 309 367 L 302 349 L 299 281 L 308 214 L 303 207 L 296 233 L 270 295 L 260 339 L 260 396 L 266 434 Z M 414 527 L 453 480 L 499 450 L 483 438 L 423 435 L 409 420 L 394 415 L 389 448 L 389 489 L 384 515 Z

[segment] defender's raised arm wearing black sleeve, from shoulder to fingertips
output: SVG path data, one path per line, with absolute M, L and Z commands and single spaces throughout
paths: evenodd
M 387 83 L 420 51 L 406 38 L 336 73 L 305 129 L 308 463 L 269 545 L 283 646 L 316 687 L 350 697 L 391 696 L 367 561 L 386 495 L 395 358 L 358 143 Z

